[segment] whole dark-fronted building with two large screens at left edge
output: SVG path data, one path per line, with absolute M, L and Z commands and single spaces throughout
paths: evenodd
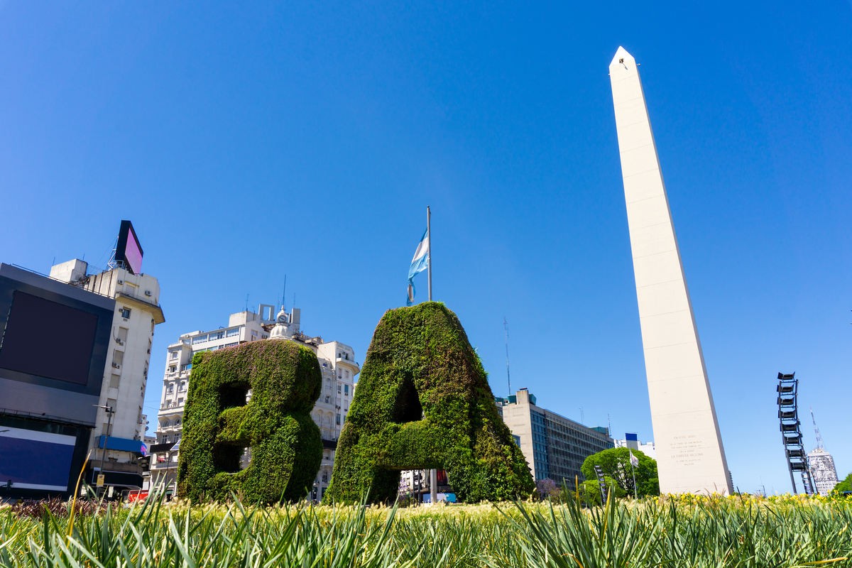
M 0 497 L 74 490 L 100 426 L 95 405 L 115 306 L 106 295 L 0 264 Z

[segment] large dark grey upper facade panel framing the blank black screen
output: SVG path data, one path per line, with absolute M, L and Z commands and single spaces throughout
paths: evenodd
M 94 426 L 114 311 L 112 298 L 0 264 L 0 416 Z

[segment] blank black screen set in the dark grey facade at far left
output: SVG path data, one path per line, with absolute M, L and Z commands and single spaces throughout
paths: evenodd
M 97 324 L 94 313 L 15 290 L 0 368 L 85 385 Z

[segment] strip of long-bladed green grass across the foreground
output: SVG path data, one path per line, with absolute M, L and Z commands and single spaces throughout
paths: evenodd
M 54 509 L 55 510 L 55 509 Z M 95 509 L 96 510 L 96 509 Z M 0 509 L 0 566 L 849 566 L 852 501 Z

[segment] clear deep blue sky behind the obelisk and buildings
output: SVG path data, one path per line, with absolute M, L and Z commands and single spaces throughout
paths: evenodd
M 849 446 L 852 4 L 0 2 L 0 261 L 134 222 L 165 346 L 295 294 L 363 360 L 432 207 L 435 299 L 512 387 L 651 439 L 607 66 L 641 64 L 734 484 L 788 491 L 797 372 Z M 425 294 L 424 275 L 418 290 Z M 805 424 L 806 444 L 815 437 Z

